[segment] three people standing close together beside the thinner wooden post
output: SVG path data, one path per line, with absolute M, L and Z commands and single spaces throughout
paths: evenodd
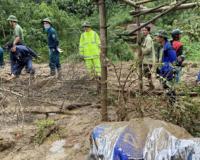
M 180 42 L 182 31 L 175 29 L 171 32 L 172 40 L 169 40 L 168 34 L 160 30 L 155 34 L 155 40 L 160 44 L 158 52 L 155 52 L 154 40 L 150 36 L 151 28 L 143 28 L 144 40 L 142 43 L 143 53 L 143 72 L 148 78 L 149 88 L 154 89 L 152 73 L 163 80 L 163 86 L 167 87 L 169 81 L 180 81 L 182 63 L 185 59 L 183 44 Z

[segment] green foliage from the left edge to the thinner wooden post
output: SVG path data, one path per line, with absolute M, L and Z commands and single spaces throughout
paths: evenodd
M 61 61 L 66 58 L 76 58 L 78 55 L 79 38 L 82 32 L 81 24 L 88 20 L 95 31 L 99 30 L 99 15 L 96 3 L 82 0 L 2 0 L 0 2 L 0 39 L 1 45 L 11 39 L 13 29 L 10 28 L 7 17 L 10 14 L 19 19 L 19 24 L 24 30 L 25 43 L 38 52 L 40 59 L 37 62 L 48 61 L 47 35 L 43 30 L 41 20 L 49 17 L 53 27 L 58 31 L 60 48 L 64 50 Z M 130 7 L 121 5 L 115 0 L 106 1 L 108 19 L 108 55 L 115 60 L 132 59 L 128 44 L 118 41 L 116 36 L 118 26 L 131 21 Z M 118 14 L 116 14 L 118 13 Z

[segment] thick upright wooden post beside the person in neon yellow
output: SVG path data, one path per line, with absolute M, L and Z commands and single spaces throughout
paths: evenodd
M 107 28 L 105 0 L 99 0 L 100 38 L 101 38 L 101 115 L 102 121 L 108 120 L 107 113 Z

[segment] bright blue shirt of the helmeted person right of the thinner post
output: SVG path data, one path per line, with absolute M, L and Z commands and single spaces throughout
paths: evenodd
M 171 43 L 166 41 L 163 47 L 163 63 L 173 63 L 176 61 L 176 51 L 173 49 Z

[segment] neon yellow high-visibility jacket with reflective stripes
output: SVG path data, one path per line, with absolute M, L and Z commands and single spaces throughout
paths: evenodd
M 90 30 L 81 34 L 79 52 L 85 59 L 99 57 L 100 39 L 95 31 Z

